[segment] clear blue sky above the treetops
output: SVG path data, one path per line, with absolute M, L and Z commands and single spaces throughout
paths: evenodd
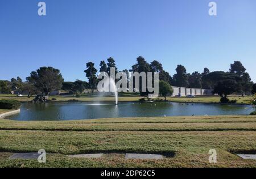
M 40 66 L 60 69 L 65 81 L 86 80 L 88 61 L 113 57 L 118 70 L 138 56 L 157 59 L 171 75 L 228 71 L 240 60 L 256 82 L 256 1 L 0 0 L 0 79 L 23 80 Z

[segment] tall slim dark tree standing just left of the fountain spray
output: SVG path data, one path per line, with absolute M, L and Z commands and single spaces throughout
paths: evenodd
M 86 63 L 86 70 L 84 70 L 84 73 L 86 74 L 86 77 L 89 80 L 89 86 L 92 92 L 94 89 L 97 87 L 97 70 L 94 68 L 94 63 L 93 62 L 88 62 Z

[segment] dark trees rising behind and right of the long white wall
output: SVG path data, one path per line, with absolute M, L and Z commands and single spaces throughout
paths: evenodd
M 226 73 L 224 71 L 213 71 L 210 73 L 208 68 L 204 68 L 204 72 L 201 74 L 198 71 L 189 74 L 184 66 L 178 65 L 171 83 L 178 87 L 214 89 L 217 88 L 218 83 L 218 86 L 221 86 L 225 82 L 232 83 L 234 81 L 235 83 L 232 86 L 233 92 L 247 95 L 251 93 L 253 82 L 251 82 L 250 75 L 246 73 L 246 69 L 240 61 L 235 61 L 231 64 L 229 72 Z M 236 87 L 234 87 L 235 84 Z

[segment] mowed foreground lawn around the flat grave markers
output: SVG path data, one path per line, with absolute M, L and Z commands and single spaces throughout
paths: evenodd
M 14 152 L 47 151 L 47 163 L 9 160 Z M 208 161 L 217 151 L 217 163 Z M 104 153 L 101 159 L 70 154 Z M 163 154 L 127 160 L 125 153 Z M 256 154 L 255 116 L 111 118 L 81 121 L 0 120 L 0 167 L 256 167 L 234 153 Z

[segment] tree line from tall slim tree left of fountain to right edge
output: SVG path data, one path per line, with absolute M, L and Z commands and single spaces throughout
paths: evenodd
M 110 75 L 110 67 L 115 68 L 117 73 L 117 67 L 113 58 L 108 58 L 108 63 L 105 61 L 100 62 L 100 72 L 106 72 Z M 86 64 L 86 77 L 89 79 L 89 86 L 92 89 L 97 87 L 97 69 L 94 67 L 94 63 L 88 62 Z M 210 72 L 208 68 L 204 68 L 203 73 L 195 71 L 192 74 L 187 73 L 187 70 L 183 65 L 177 65 L 176 74 L 171 76 L 167 71 L 163 69 L 163 65 L 159 61 L 152 61 L 148 63 L 142 56 L 137 58 L 137 63 L 131 67 L 130 72 L 158 72 L 159 80 L 177 87 L 189 87 L 189 88 L 205 88 L 214 89 L 214 93 L 218 93 L 220 96 L 227 96 L 231 93 L 241 93 L 242 95 L 250 95 L 255 93 L 255 84 L 251 82 L 250 75 L 246 73 L 245 67 L 240 61 L 234 61 L 230 64 L 230 70 L 213 71 Z M 123 70 L 128 76 L 129 71 Z M 253 90 L 254 89 L 254 90 Z M 139 89 L 141 91 L 141 89 Z M 141 96 L 147 96 L 148 92 L 141 92 Z

